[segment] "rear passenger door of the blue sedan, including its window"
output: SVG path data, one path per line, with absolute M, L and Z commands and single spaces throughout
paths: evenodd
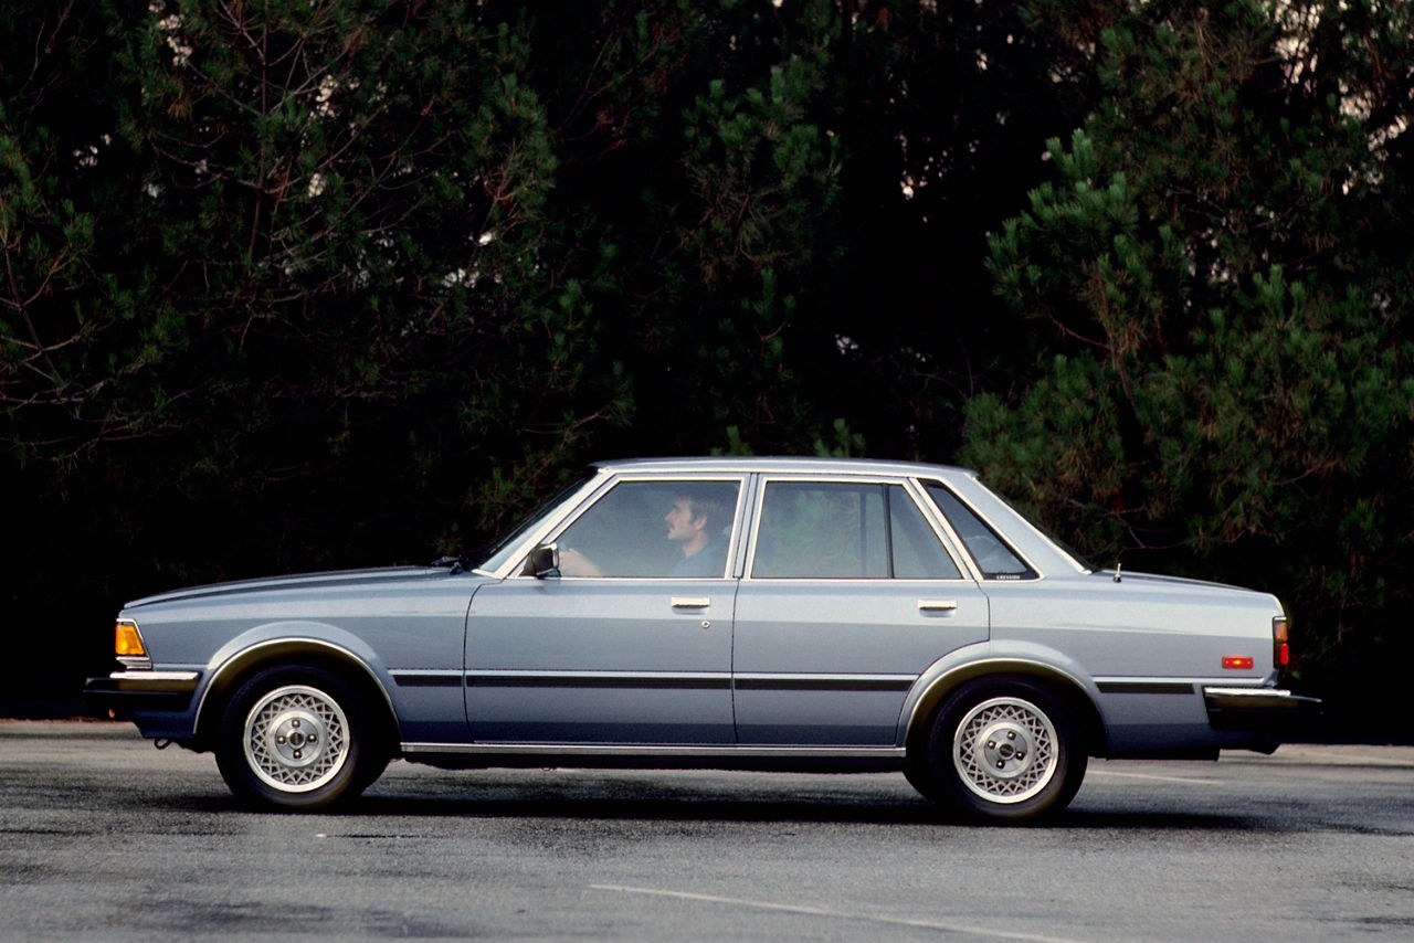
M 939 657 L 987 639 L 987 597 L 906 479 L 768 478 L 737 594 L 737 737 L 894 745 Z

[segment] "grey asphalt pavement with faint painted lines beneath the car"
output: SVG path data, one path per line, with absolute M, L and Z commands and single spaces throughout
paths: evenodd
M 1093 761 L 1045 827 L 901 775 L 396 762 L 253 813 L 132 727 L 0 722 L 0 940 L 1414 939 L 1414 748 Z

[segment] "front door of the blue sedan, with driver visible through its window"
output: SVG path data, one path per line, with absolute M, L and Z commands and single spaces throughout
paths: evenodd
M 734 742 L 728 560 L 742 482 L 617 479 L 550 537 L 559 574 L 477 592 L 465 662 L 472 738 Z

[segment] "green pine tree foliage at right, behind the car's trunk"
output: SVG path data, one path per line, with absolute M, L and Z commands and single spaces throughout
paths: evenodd
M 1328 680 L 1414 604 L 1414 49 L 1407 8 L 1373 16 L 1145 4 L 1104 34 L 1104 98 L 993 240 L 1042 369 L 971 403 L 963 451 L 1103 560 L 1278 592 Z

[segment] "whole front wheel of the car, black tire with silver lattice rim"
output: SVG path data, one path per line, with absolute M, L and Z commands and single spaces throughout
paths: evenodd
M 216 766 L 238 799 L 310 812 L 355 799 L 387 766 L 358 689 L 332 672 L 280 666 L 249 677 L 218 721 Z

